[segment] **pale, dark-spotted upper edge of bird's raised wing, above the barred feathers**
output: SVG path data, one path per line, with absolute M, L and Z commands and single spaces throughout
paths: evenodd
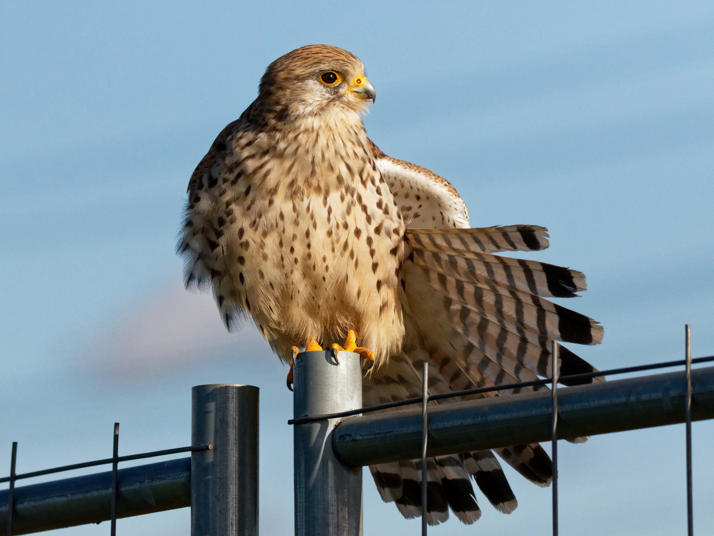
M 411 228 L 468 228 L 468 209 L 446 178 L 387 156 L 368 140 L 372 157 Z

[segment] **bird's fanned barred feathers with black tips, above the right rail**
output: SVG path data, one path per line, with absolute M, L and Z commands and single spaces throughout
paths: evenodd
M 553 340 L 603 340 L 595 320 L 541 297 L 585 290 L 582 273 L 483 253 L 493 251 L 498 243 L 493 236 L 501 236 L 502 229 L 409 229 L 406 235 L 411 251 L 404 279 L 416 329 L 426 348 L 455 363 L 477 386 L 550 376 Z M 595 370 L 561 349 L 561 375 Z

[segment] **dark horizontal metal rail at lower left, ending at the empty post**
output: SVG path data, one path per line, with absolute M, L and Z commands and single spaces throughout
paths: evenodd
M 118 480 L 118 517 L 191 506 L 190 457 L 120 469 Z M 107 521 L 111 471 L 15 487 L 14 512 L 13 536 Z M 2 490 L 0 536 L 7 514 L 8 490 Z

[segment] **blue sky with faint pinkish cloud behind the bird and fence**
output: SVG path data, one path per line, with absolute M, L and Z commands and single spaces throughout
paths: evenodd
M 714 5 L 662 2 L 16 2 L 0 7 L 0 464 L 18 470 L 190 442 L 190 388 L 261 388 L 261 528 L 292 530 L 285 370 L 225 333 L 174 256 L 186 183 L 281 54 L 357 54 L 383 151 L 448 178 L 473 226 L 534 223 L 531 258 L 588 275 L 573 308 L 598 368 L 714 353 Z M 685 523 L 683 427 L 560 449 L 563 532 L 669 535 Z M 712 423 L 695 423 L 695 520 L 712 532 Z M 5 461 L 3 461 L 5 460 Z M 5 474 L 7 471 L 0 470 Z M 550 491 L 474 527 L 550 532 Z M 365 479 L 366 533 L 418 532 Z M 119 522 L 188 535 L 188 510 Z M 67 536 L 106 534 L 77 527 Z

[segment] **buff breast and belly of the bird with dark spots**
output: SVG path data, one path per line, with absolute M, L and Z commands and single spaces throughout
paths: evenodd
M 371 157 L 288 156 L 251 163 L 233 186 L 236 262 L 226 265 L 239 270 L 249 313 L 264 333 L 296 340 L 358 328 L 376 343 L 380 324 L 403 333 L 403 222 Z

